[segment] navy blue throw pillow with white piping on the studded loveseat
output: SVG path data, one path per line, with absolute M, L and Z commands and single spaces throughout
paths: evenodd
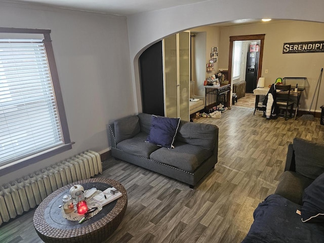
M 152 115 L 151 130 L 147 136 L 146 142 L 156 145 L 173 148 L 173 142 L 176 137 L 180 124 L 180 118 L 169 118 Z

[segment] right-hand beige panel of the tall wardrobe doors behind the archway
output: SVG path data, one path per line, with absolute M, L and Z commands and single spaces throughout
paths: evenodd
M 179 117 L 189 120 L 190 32 L 179 33 Z

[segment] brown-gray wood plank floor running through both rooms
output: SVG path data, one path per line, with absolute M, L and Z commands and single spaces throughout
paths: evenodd
M 128 192 L 123 222 L 106 242 L 241 242 L 253 211 L 273 193 L 294 137 L 324 140 L 319 119 L 266 120 L 253 109 L 222 113 L 198 123 L 219 127 L 218 164 L 195 189 L 124 161 L 109 159 L 103 177 Z M 0 227 L 0 242 L 42 242 L 32 225 L 33 211 Z

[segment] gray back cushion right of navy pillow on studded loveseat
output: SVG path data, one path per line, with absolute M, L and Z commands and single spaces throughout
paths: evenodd
M 218 134 L 218 127 L 212 124 L 181 121 L 177 141 L 197 145 L 212 151 Z

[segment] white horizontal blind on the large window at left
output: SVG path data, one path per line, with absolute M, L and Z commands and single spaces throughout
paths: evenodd
M 63 144 L 42 39 L 0 39 L 0 165 Z

